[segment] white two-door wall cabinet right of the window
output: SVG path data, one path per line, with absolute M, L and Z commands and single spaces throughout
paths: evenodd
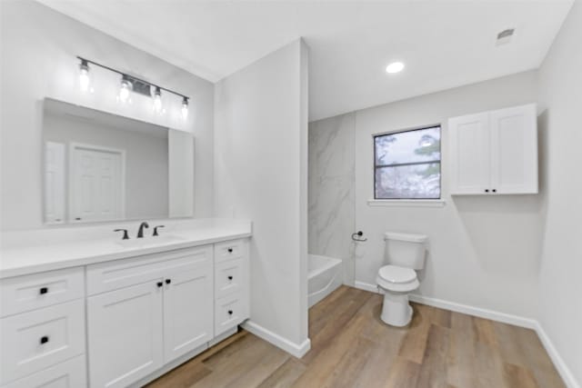
M 448 121 L 450 194 L 537 194 L 536 104 Z

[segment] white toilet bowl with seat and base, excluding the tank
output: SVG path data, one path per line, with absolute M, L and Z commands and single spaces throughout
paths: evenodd
M 378 271 L 376 283 L 384 291 L 380 319 L 392 326 L 406 326 L 412 320 L 408 293 L 420 285 L 416 272 L 410 268 L 385 265 Z

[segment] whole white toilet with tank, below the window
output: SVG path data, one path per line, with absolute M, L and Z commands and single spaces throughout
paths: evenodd
M 376 283 L 384 291 L 380 318 L 392 326 L 406 326 L 412 319 L 408 293 L 420 283 L 416 271 L 425 266 L 426 235 L 386 232 L 384 265 L 378 270 Z

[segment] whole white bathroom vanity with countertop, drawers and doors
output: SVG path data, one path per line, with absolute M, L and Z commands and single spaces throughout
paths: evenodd
M 140 386 L 236 333 L 250 223 L 174 229 L 3 249 L 0 386 Z

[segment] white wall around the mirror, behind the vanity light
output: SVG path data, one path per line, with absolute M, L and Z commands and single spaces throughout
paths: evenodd
M 195 216 L 213 213 L 214 85 L 162 59 L 31 0 L 0 2 L 0 228 L 27 229 L 42 225 L 41 135 L 45 96 L 84 104 L 196 136 Z M 81 94 L 76 55 L 138 75 L 190 95 L 186 122 L 180 102 L 164 95 L 167 112 L 156 116 L 151 99 L 134 95 L 134 104 L 119 104 L 119 77 L 95 66 L 94 94 Z M 178 99 L 179 100 L 179 99 Z

